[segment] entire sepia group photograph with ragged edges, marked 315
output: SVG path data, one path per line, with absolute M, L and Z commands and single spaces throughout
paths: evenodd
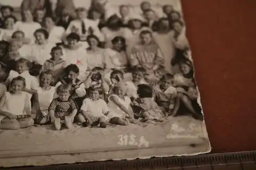
M 210 152 L 180 0 L 1 14 L 0 167 Z

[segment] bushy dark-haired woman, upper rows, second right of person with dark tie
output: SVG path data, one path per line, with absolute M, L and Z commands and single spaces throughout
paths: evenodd
M 116 15 L 112 15 L 105 24 L 105 27 L 101 29 L 101 33 L 104 36 L 104 42 L 105 48 L 111 48 L 112 47 L 112 39 L 116 36 L 122 36 L 123 35 L 123 28 L 122 28 L 122 21 L 121 19 Z

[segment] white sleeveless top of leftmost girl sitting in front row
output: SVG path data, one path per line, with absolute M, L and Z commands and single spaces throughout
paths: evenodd
M 6 101 L 1 108 L 2 111 L 9 112 L 15 115 L 26 115 L 31 113 L 30 100 L 26 92 L 22 91 L 19 94 L 11 94 L 5 92 Z M 0 115 L 0 123 L 6 116 Z

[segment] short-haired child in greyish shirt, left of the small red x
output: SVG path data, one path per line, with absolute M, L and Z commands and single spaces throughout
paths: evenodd
M 54 46 L 51 50 L 52 58 L 46 60 L 44 65 L 42 65 L 42 71 L 50 69 L 54 72 L 55 78 L 59 78 L 66 65 L 66 61 L 61 58 L 62 55 L 62 48 L 60 46 Z

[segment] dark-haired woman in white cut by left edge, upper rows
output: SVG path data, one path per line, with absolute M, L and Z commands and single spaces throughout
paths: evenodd
M 0 29 L 0 40 L 8 41 L 11 39 L 15 31 L 15 23 L 17 19 L 13 15 L 6 16 L 3 20 L 3 29 Z

